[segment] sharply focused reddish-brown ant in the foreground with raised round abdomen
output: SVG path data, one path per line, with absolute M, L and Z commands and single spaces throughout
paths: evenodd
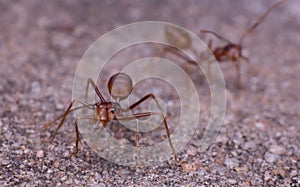
M 176 162 L 177 160 L 177 155 L 173 146 L 173 143 L 170 138 L 170 130 L 166 121 L 166 117 L 163 115 L 162 109 L 156 99 L 156 97 L 150 93 L 147 94 L 146 96 L 142 97 L 139 99 L 137 102 L 131 104 L 127 108 L 122 108 L 119 102 L 121 100 L 126 99 L 129 94 L 132 92 L 133 85 L 132 85 L 132 79 L 125 73 L 116 73 L 112 75 L 108 81 L 108 91 L 109 94 L 115 101 L 107 101 L 104 99 L 102 96 L 99 88 L 96 86 L 95 82 L 92 79 L 88 79 L 87 81 L 87 87 L 86 87 L 86 97 L 87 97 L 87 92 L 89 89 L 89 85 L 91 85 L 96 92 L 97 96 L 99 97 L 100 101 L 93 103 L 93 104 L 88 104 L 80 100 L 73 100 L 67 110 L 57 118 L 55 118 L 53 121 L 49 122 L 48 124 L 44 125 L 41 130 L 48 129 L 50 126 L 52 126 L 57 120 L 61 119 L 59 125 L 56 127 L 54 134 L 52 135 L 52 138 L 47 140 L 48 142 L 52 141 L 56 135 L 58 130 L 62 127 L 66 117 L 68 116 L 69 113 L 79 110 L 82 108 L 88 108 L 90 110 L 94 111 L 94 115 L 92 116 L 85 116 L 85 117 L 78 117 L 75 120 L 75 131 L 76 131 L 76 151 L 70 156 L 76 156 L 78 153 L 78 143 L 80 141 L 80 134 L 79 134 L 79 129 L 78 129 L 78 121 L 82 119 L 90 119 L 90 120 L 95 120 L 97 122 L 100 122 L 102 127 L 104 127 L 107 123 L 113 121 L 113 120 L 138 120 L 140 118 L 145 118 L 153 115 L 161 116 L 163 119 L 164 127 L 166 129 L 167 137 L 169 140 L 170 147 L 172 149 L 174 159 Z M 147 99 L 154 99 L 156 104 L 158 105 L 158 108 L 160 109 L 161 112 L 142 112 L 142 113 L 133 113 L 131 115 L 125 115 L 125 112 L 129 112 L 139 106 L 141 103 L 146 101 Z M 82 106 L 72 108 L 74 103 L 80 103 Z M 136 123 L 136 149 L 138 153 L 138 161 L 139 161 L 139 127 L 138 127 L 138 121 Z

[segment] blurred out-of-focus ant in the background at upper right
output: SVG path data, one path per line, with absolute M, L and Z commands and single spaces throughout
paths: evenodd
M 249 59 L 242 54 L 242 49 L 243 49 L 243 41 L 246 36 L 248 36 L 251 32 L 253 32 L 254 29 L 256 29 L 259 24 L 265 19 L 265 17 L 277 6 L 285 2 L 286 0 L 280 0 L 279 2 L 275 3 L 272 5 L 249 29 L 247 29 L 241 36 L 239 43 L 233 43 L 230 42 L 229 40 L 225 39 L 224 37 L 218 35 L 217 33 L 209 30 L 201 30 L 200 33 L 207 33 L 207 34 L 212 34 L 218 39 L 226 42 L 227 44 L 222 47 L 216 47 L 212 48 L 212 41 L 210 40 L 208 42 L 208 48 L 212 51 L 213 55 L 215 56 L 216 60 L 218 62 L 225 62 L 225 61 L 232 61 L 235 64 L 236 67 L 236 85 L 237 87 L 241 87 L 241 73 L 240 73 L 240 60 L 246 61 L 246 63 L 249 63 Z M 183 30 L 176 28 L 176 27 L 171 27 L 167 26 L 165 27 L 165 36 L 167 41 L 170 43 L 170 45 L 175 46 L 181 50 L 184 49 L 189 49 L 192 50 L 196 58 L 200 58 L 201 54 L 197 52 L 196 50 L 193 49 L 192 47 L 192 39 L 190 36 Z M 184 61 L 187 62 L 187 65 L 193 64 L 197 65 L 197 62 L 193 60 L 191 57 L 187 57 L 184 55 L 181 51 L 177 50 L 175 47 L 164 47 L 161 56 L 164 56 L 166 53 L 171 53 L 176 55 L 177 57 L 183 59 Z M 208 64 L 208 76 L 210 76 L 210 63 Z

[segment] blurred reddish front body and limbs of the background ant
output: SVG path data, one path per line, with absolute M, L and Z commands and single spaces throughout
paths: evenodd
M 212 51 L 213 55 L 215 56 L 216 60 L 218 62 L 225 62 L 225 61 L 231 61 L 234 63 L 235 68 L 236 68 L 236 79 L 237 79 L 237 87 L 241 87 L 241 67 L 240 67 L 240 60 L 244 60 L 246 63 L 249 63 L 249 59 L 242 54 L 242 49 L 243 49 L 243 41 L 244 38 L 253 32 L 254 29 L 258 27 L 258 25 L 265 19 L 265 17 L 277 6 L 285 2 L 286 0 L 281 0 L 272 5 L 248 30 L 246 30 L 240 40 L 239 43 L 233 43 L 230 42 L 229 40 L 225 39 L 224 37 L 218 35 L 217 33 L 209 30 L 201 30 L 201 33 L 208 33 L 212 34 L 218 39 L 226 42 L 227 44 L 222 47 L 216 47 L 212 48 L 212 41 L 210 40 L 208 42 L 208 48 Z

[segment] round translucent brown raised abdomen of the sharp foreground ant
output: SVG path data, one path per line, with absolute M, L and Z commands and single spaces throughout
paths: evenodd
M 116 100 L 126 99 L 132 88 L 132 80 L 125 73 L 116 73 L 108 81 L 108 91 Z

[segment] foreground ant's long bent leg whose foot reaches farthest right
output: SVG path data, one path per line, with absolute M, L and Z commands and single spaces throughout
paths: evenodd
M 174 160 L 178 163 L 177 154 L 175 152 L 175 148 L 174 148 L 172 140 L 171 140 L 170 130 L 169 130 L 166 118 L 164 117 L 163 113 L 155 113 L 155 112 L 137 113 L 137 114 L 133 114 L 131 116 L 118 117 L 117 119 L 118 120 L 132 120 L 132 119 L 139 119 L 139 118 L 148 117 L 148 116 L 152 116 L 152 115 L 159 115 L 163 118 L 163 122 L 164 122 L 164 126 L 166 129 L 169 144 L 170 144 L 170 147 L 171 147 L 173 155 L 174 155 Z

